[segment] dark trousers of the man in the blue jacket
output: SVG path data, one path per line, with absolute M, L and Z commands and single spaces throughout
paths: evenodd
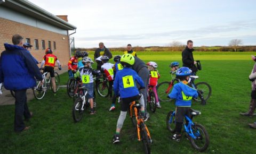
M 26 119 L 31 117 L 28 105 L 27 105 L 27 95 L 25 90 L 15 90 L 15 116 L 14 116 L 14 131 L 20 132 L 25 129 L 25 124 L 23 121 L 23 116 Z

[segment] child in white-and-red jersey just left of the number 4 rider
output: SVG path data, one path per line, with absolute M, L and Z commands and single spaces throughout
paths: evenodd
M 108 82 L 109 82 L 109 96 L 112 98 L 112 88 L 113 88 L 113 82 L 114 82 L 114 71 L 113 66 L 114 64 L 108 63 L 109 58 L 107 56 L 102 56 L 101 58 L 101 70 L 105 73 Z

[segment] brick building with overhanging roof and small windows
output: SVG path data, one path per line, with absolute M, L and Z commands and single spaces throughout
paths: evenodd
M 69 30 L 76 27 L 68 23 L 67 15 L 55 16 L 26 0 L 0 0 L 0 52 L 18 33 L 33 45 L 31 54 L 38 61 L 50 47 L 65 67 L 70 58 Z

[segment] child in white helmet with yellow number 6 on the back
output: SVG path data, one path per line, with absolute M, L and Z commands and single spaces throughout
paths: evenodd
M 82 63 L 84 67 L 79 69 L 80 76 L 82 79 L 82 83 L 86 90 L 88 91 L 88 98 L 90 102 L 91 115 L 95 114 L 95 110 L 93 108 L 93 75 L 98 75 L 98 70 L 92 69 L 92 64 L 94 63 L 91 58 L 83 57 Z

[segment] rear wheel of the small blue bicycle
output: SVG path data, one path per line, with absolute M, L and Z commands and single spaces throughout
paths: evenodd
M 196 139 L 189 136 L 189 141 L 192 147 L 201 152 L 205 151 L 209 146 L 210 140 L 204 126 L 201 124 L 192 125 L 190 133 L 196 136 Z

